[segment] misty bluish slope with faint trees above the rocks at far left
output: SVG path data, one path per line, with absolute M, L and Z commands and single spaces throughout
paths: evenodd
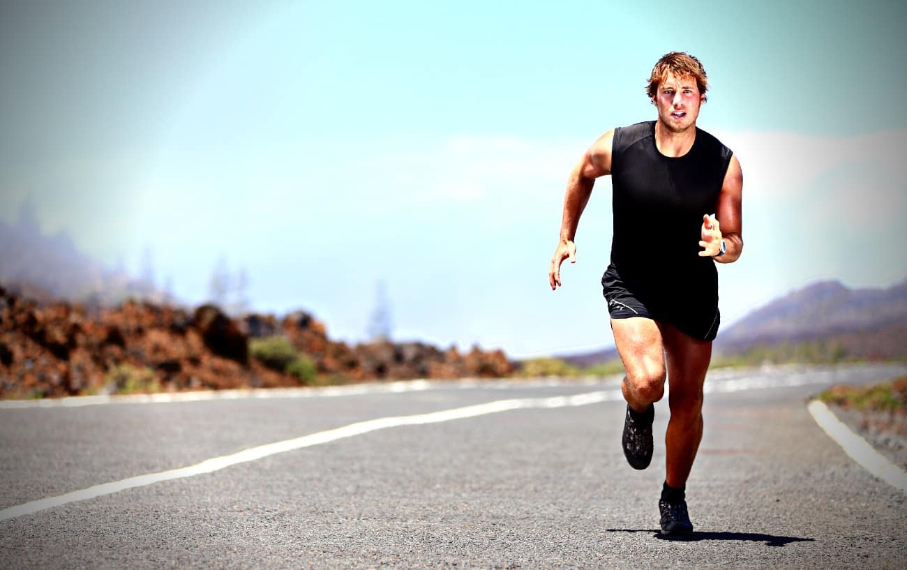
M 130 297 L 167 300 L 153 283 L 109 270 L 60 231 L 44 235 L 34 204 L 25 201 L 12 224 L 0 221 L 0 283 L 25 297 L 112 305 Z

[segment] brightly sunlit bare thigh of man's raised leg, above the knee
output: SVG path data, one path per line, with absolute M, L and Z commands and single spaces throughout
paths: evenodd
M 657 322 L 645 317 L 611 319 L 611 330 L 628 378 L 664 375 L 664 343 Z

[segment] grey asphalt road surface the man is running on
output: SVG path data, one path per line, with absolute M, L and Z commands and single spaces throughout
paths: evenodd
M 512 398 L 603 400 L 376 429 L 7 517 L 0 567 L 902 568 L 907 496 L 854 464 L 805 405 L 824 384 L 902 372 L 711 374 L 687 540 L 657 530 L 667 406 L 652 467 L 634 471 L 613 378 L 0 408 L 6 509 L 363 420 Z

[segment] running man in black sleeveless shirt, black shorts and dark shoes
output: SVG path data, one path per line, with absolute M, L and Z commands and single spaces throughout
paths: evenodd
M 671 52 L 658 60 L 647 86 L 657 120 L 613 129 L 583 154 L 567 183 L 548 272 L 556 290 L 563 260 L 576 262 L 573 240 L 592 185 L 610 174 L 614 234 L 601 285 L 627 373 L 622 444 L 631 467 L 649 467 L 654 403 L 667 371 L 667 474 L 658 501 L 665 533 L 693 530 L 685 489 L 702 439 L 702 386 L 719 324 L 715 261 L 731 263 L 743 250 L 740 163 L 696 126 L 707 88 L 697 58 Z

